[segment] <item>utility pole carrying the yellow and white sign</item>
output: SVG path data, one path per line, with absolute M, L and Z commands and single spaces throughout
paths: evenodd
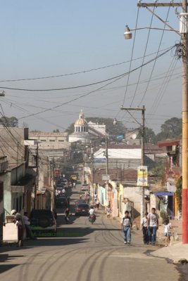
M 137 119 L 134 118 L 134 116 L 130 113 L 130 110 L 136 110 L 136 111 L 142 111 L 142 124 L 140 124 L 139 122 L 137 122 L 140 126 L 141 126 L 141 153 L 142 153 L 142 156 L 141 156 L 141 166 L 144 166 L 145 164 L 145 161 L 144 161 L 144 154 L 145 154 L 145 149 L 144 149 L 144 143 L 145 143 L 145 140 L 144 140 L 144 136 L 145 136 L 145 126 L 144 126 L 144 123 L 145 123 L 145 107 L 143 105 L 142 108 L 139 108 L 139 107 L 136 107 L 136 108 L 130 108 L 130 107 L 121 107 L 121 110 L 127 110 L 127 112 L 131 115 L 131 117 L 137 122 Z M 144 178 L 144 175 L 143 175 L 143 178 Z M 144 183 L 142 186 L 140 186 L 140 193 L 141 193 L 141 206 L 140 206 L 140 214 L 141 214 L 141 219 L 144 218 L 144 213 L 145 213 L 145 206 L 144 206 Z

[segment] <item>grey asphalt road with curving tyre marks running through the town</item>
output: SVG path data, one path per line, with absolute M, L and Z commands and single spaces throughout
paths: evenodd
M 79 191 L 77 186 L 70 197 L 72 211 Z M 144 245 L 139 233 L 132 233 L 132 244 L 125 245 L 118 221 L 97 214 L 93 225 L 87 217 L 75 216 L 66 225 L 58 211 L 57 237 L 27 240 L 23 248 L 1 248 L 0 280 L 179 280 L 177 268 L 153 257 L 156 246 Z

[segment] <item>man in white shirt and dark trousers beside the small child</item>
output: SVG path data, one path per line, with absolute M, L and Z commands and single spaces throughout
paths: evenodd
M 156 244 L 156 232 L 158 230 L 158 214 L 156 214 L 156 208 L 151 209 L 151 213 L 148 214 L 147 218 L 149 244 L 154 246 Z

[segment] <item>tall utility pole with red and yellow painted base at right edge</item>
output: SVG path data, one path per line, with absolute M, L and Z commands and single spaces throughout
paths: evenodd
M 182 242 L 188 244 L 188 51 L 187 51 L 187 0 L 182 3 L 139 3 L 138 7 L 181 6 L 180 36 L 182 41 Z

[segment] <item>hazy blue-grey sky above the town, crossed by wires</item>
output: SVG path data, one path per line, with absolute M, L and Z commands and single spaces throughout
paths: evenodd
M 83 110 L 85 117 L 115 117 L 132 128 L 141 112 L 132 112 L 133 118 L 120 107 L 145 105 L 146 126 L 156 132 L 166 119 L 181 117 L 182 61 L 175 48 L 168 51 L 180 37 L 146 29 L 125 40 L 125 25 L 164 28 L 136 0 L 0 3 L 0 86 L 12 88 L 0 98 L 1 116 L 15 116 L 30 130 L 64 131 Z M 175 8 L 154 12 L 179 29 Z M 35 79 L 44 77 L 50 78 Z

